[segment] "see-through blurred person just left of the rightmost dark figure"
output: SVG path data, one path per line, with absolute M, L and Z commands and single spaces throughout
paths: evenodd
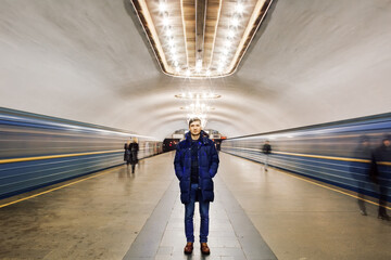
M 370 148 L 370 142 L 369 138 L 367 135 L 360 136 L 358 145 L 354 150 L 353 155 L 355 158 L 370 160 L 371 156 L 371 148 Z M 365 207 L 365 195 L 364 195 L 364 188 L 366 183 L 369 182 L 369 171 L 370 171 L 370 165 L 363 162 L 357 167 L 357 162 L 353 161 L 351 162 L 350 167 L 351 174 L 354 180 L 357 182 L 357 203 L 360 212 L 363 216 L 367 216 L 366 207 Z

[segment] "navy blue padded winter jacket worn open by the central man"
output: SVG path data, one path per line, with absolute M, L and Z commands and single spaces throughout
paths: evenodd
M 217 173 L 218 154 L 212 140 L 207 138 L 204 131 L 200 133 L 198 142 L 198 160 L 199 160 L 199 187 L 201 188 L 202 199 L 213 202 L 213 180 Z M 191 185 L 191 135 L 188 132 L 176 148 L 174 159 L 175 174 L 177 176 L 180 187 L 180 200 L 182 204 L 190 202 Z

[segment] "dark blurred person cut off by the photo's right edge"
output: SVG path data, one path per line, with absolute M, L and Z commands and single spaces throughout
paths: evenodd
M 382 143 L 377 147 L 371 156 L 371 179 L 379 185 L 379 213 L 378 218 L 390 221 L 390 216 L 387 214 L 387 194 L 388 185 L 390 184 L 387 176 L 387 164 L 391 162 L 391 142 L 390 135 L 386 135 Z

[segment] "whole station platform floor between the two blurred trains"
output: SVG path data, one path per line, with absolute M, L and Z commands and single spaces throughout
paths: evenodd
M 185 256 L 174 153 L 0 200 L 0 259 L 391 259 L 391 223 L 354 194 L 219 154 L 209 246 Z M 195 208 L 194 236 L 199 235 Z

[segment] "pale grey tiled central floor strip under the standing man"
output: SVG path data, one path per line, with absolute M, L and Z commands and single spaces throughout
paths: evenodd
M 200 252 L 198 205 L 194 213 L 194 251 L 191 256 L 184 255 L 185 209 L 180 203 L 178 183 L 174 180 L 124 259 L 277 259 L 224 182 L 218 177 L 215 182 L 218 196 L 210 210 L 210 256 Z

